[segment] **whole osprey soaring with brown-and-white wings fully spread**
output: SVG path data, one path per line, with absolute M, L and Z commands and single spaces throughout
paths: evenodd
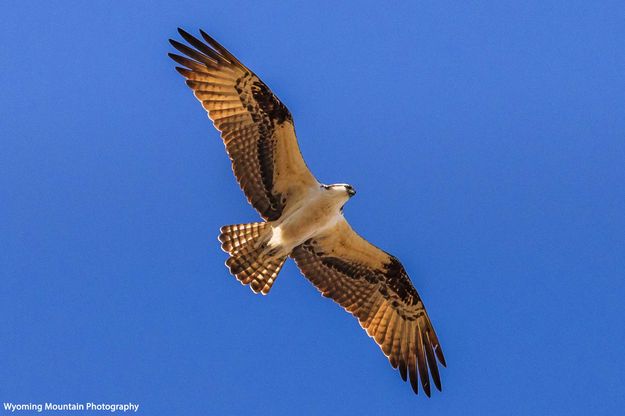
M 205 42 L 178 32 L 191 46 L 170 40 L 186 57 L 169 56 L 221 132 L 234 175 L 265 220 L 221 228 L 230 272 L 266 295 L 291 257 L 323 296 L 358 319 L 402 379 L 409 376 L 415 393 L 420 379 L 430 395 L 429 375 L 441 390 L 437 359 L 446 365 L 443 351 L 406 270 L 343 216 L 354 188 L 315 179 L 291 113 L 254 72 L 204 31 Z

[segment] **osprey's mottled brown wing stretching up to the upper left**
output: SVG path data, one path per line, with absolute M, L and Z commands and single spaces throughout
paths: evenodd
M 252 71 L 200 31 L 204 41 L 178 29 L 191 46 L 171 44 L 186 56 L 169 56 L 221 132 L 232 170 L 248 201 L 266 220 L 317 180 L 299 151 L 289 110 Z

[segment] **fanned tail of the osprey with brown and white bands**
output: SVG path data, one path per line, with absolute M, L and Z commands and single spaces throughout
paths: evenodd
M 269 293 L 286 260 L 267 250 L 271 226 L 266 222 L 225 225 L 220 232 L 221 248 L 230 254 L 226 261 L 230 273 L 254 293 Z

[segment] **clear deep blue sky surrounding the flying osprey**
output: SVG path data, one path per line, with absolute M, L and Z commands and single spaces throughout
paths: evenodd
M 0 26 L 0 401 L 148 415 L 617 414 L 625 407 L 622 2 L 11 2 Z M 415 397 L 255 221 L 167 57 L 203 28 L 349 182 L 448 362 Z

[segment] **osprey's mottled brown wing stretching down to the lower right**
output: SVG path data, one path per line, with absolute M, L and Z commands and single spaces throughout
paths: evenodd
M 291 256 L 323 296 L 358 318 L 404 381 L 410 376 L 415 393 L 418 375 L 430 395 L 428 373 L 441 389 L 436 359 L 446 365 L 443 351 L 419 294 L 395 257 L 360 237 L 344 219 L 296 247 Z

